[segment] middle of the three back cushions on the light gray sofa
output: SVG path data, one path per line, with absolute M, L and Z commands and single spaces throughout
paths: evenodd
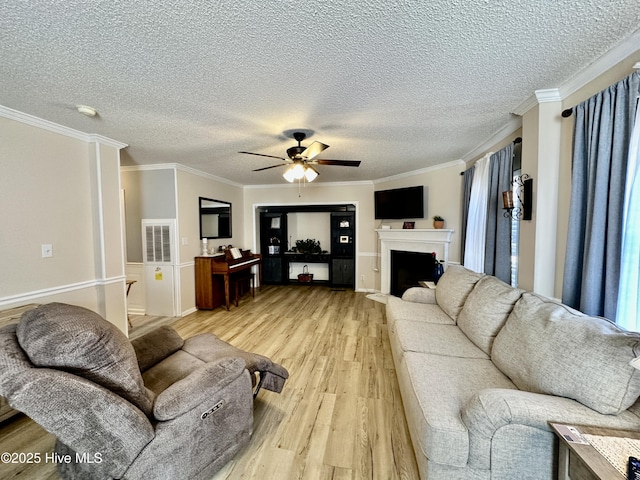
M 494 338 L 523 293 L 496 277 L 481 278 L 464 302 L 458 326 L 483 352 L 491 354 Z

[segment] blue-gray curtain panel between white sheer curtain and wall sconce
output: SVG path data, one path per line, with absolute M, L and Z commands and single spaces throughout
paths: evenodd
M 484 272 L 511 283 L 511 220 L 504 217 L 502 192 L 511 190 L 513 143 L 491 155 Z

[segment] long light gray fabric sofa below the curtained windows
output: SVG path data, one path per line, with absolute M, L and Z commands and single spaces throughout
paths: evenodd
M 423 478 L 556 478 L 550 421 L 640 429 L 640 334 L 452 265 L 386 306 Z

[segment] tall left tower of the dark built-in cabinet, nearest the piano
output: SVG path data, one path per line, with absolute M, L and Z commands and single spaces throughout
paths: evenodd
M 285 283 L 288 265 L 284 259 L 287 250 L 287 214 L 262 212 L 260 214 L 260 252 L 262 253 L 262 281 L 265 284 Z

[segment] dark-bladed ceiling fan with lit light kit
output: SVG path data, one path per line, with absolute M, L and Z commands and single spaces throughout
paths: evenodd
M 254 172 L 260 172 L 262 170 L 269 170 L 270 168 L 277 168 L 288 166 L 289 169 L 284 173 L 284 178 L 293 182 L 294 180 L 301 180 L 306 178 L 308 182 L 312 182 L 320 173 L 313 167 L 313 165 L 338 165 L 343 167 L 357 167 L 360 165 L 360 160 L 327 160 L 316 159 L 315 157 L 323 150 L 329 148 L 329 145 L 325 145 L 321 142 L 313 142 L 308 147 L 301 145 L 302 141 L 306 138 L 304 132 L 293 132 L 293 138 L 298 142 L 298 145 L 287 149 L 287 156 L 276 157 L 274 155 L 265 155 L 263 153 L 253 152 L 238 152 L 246 153 L 247 155 L 257 155 L 259 157 L 278 158 L 285 163 L 279 163 L 277 165 L 271 165 L 269 167 L 256 168 Z

